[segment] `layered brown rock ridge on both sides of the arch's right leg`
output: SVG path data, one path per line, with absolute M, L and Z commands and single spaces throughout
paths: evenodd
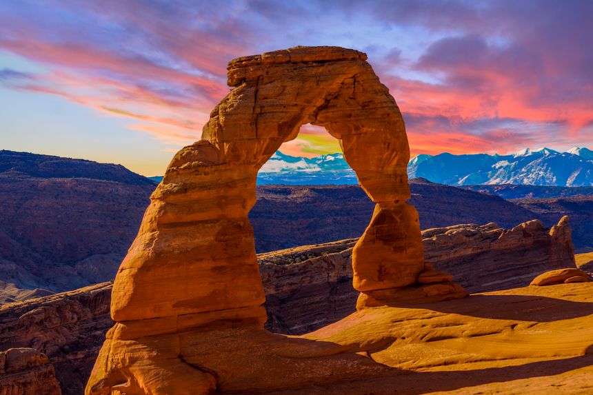
M 528 221 L 510 230 L 494 223 L 425 230 L 422 239 L 428 267 L 419 283 L 452 278 L 470 292 L 525 287 L 543 272 L 574 267 L 567 236 L 567 219 L 552 229 Z M 356 239 L 348 239 L 259 254 L 266 327 L 272 332 L 304 334 L 354 311 L 358 292 L 350 282 L 355 243 Z M 434 287 L 434 292 L 439 288 Z M 412 292 L 410 297 L 413 301 L 417 294 Z

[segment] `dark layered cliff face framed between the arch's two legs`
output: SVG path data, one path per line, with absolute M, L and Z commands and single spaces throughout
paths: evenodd
M 259 254 L 266 329 L 302 334 L 356 310 L 352 248 L 356 239 Z

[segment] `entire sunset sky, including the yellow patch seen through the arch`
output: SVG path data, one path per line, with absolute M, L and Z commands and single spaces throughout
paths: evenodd
M 593 1 L 0 0 L 0 149 L 163 174 L 228 61 L 339 45 L 401 109 L 412 155 L 593 145 Z M 339 152 L 304 125 L 285 154 Z

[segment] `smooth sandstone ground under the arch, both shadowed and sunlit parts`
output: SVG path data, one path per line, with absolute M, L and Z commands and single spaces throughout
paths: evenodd
M 118 340 L 110 359 L 138 361 L 130 369 L 134 378 L 113 372 L 103 383 L 111 394 L 119 388 L 125 394 L 207 394 L 204 386 L 182 392 L 179 382 L 207 367 L 217 380 L 210 393 L 219 394 L 589 394 L 592 302 L 590 283 L 571 283 L 375 307 L 298 337 L 210 325 L 175 337 L 194 372 L 179 366 L 174 376 L 149 377 L 152 383 L 135 378 L 141 354 L 151 356 L 145 369 L 154 372 L 154 357 L 145 353 L 174 342 L 163 335 Z M 124 347 L 125 359 L 117 355 Z M 177 350 L 165 351 L 174 360 Z

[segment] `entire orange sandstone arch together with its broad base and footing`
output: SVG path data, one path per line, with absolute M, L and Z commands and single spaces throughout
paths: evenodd
M 323 356 L 336 352 L 333 346 L 282 347 L 283 336 L 263 330 L 264 292 L 247 215 L 258 170 L 307 123 L 339 139 L 345 160 L 376 203 L 353 251 L 353 285 L 363 292 L 357 307 L 390 305 L 402 297 L 409 302 L 465 296 L 447 276 L 425 276 L 430 281 L 418 284 L 421 272 L 432 268 L 425 267 L 418 214 L 405 203 L 408 139 L 399 108 L 365 54 L 297 47 L 242 57 L 229 63 L 228 85 L 234 88 L 212 110 L 203 139 L 174 156 L 151 196 L 114 282 L 111 314 L 117 324 L 87 394 L 252 390 L 255 379 L 239 381 L 241 374 L 303 355 L 310 356 L 309 363 L 294 369 L 294 377 L 270 373 L 256 387 L 382 369 L 370 361 L 355 363 L 352 356 L 352 363 L 332 367 Z M 224 334 L 206 336 L 220 328 Z M 228 365 L 204 360 L 214 338 L 225 340 L 220 356 L 212 358 L 238 347 L 261 358 L 259 366 L 244 358 Z

